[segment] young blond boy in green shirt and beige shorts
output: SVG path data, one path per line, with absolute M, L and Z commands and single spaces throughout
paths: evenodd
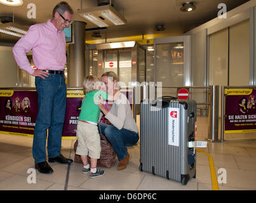
M 78 145 L 76 154 L 81 155 L 83 161 L 83 173 L 90 172 L 90 178 L 104 176 L 105 171 L 97 168 L 97 160 L 100 159 L 100 134 L 98 134 L 98 117 L 100 116 L 100 108 L 95 105 L 94 98 L 98 95 L 104 100 L 113 100 L 113 96 L 107 95 L 102 91 L 102 83 L 100 80 L 89 75 L 83 81 L 86 95 L 81 106 L 79 115 L 76 137 Z M 88 164 L 88 155 L 90 156 L 91 167 Z

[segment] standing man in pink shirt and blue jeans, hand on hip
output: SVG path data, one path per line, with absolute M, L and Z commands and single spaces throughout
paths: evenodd
M 60 154 L 62 128 L 65 120 L 66 63 L 65 35 L 62 32 L 71 22 L 73 10 L 66 2 L 53 9 L 53 18 L 46 23 L 30 26 L 13 47 L 13 55 L 20 69 L 36 77 L 38 114 L 34 130 L 32 153 L 35 167 L 40 173 L 53 173 L 46 162 L 46 136 L 48 132 L 48 161 L 70 164 L 71 159 Z M 32 69 L 26 53 L 32 49 L 36 70 Z

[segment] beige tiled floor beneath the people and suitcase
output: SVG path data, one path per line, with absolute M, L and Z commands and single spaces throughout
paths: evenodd
M 137 119 L 139 121 L 139 119 Z M 208 137 L 207 117 L 198 117 L 198 140 Z M 213 156 L 215 171 L 224 168 L 227 183 L 219 190 L 256 190 L 256 134 L 226 134 L 224 143 L 210 143 L 200 148 Z M 62 141 L 62 154 L 74 158 L 74 141 Z M 140 145 L 128 148 L 131 155 L 128 167 L 117 171 L 116 165 L 105 169 L 105 176 L 88 178 L 81 173 L 81 164 L 69 168 L 67 190 L 212 190 L 208 156 L 197 153 L 196 179 L 183 186 L 149 173 L 138 171 Z M 34 168 L 32 138 L 0 134 L 0 190 L 64 190 L 67 165 L 50 163 L 53 174 L 36 171 L 36 183 L 28 183 L 29 168 Z M 217 174 L 217 177 L 219 174 Z

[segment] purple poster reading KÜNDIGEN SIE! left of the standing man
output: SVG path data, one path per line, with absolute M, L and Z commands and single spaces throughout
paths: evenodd
M 36 124 L 36 91 L 0 90 L 0 133 L 31 136 Z

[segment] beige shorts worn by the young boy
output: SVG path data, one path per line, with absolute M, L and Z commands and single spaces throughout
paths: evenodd
M 78 121 L 76 138 L 78 141 L 76 154 L 100 159 L 100 134 L 96 125 Z

